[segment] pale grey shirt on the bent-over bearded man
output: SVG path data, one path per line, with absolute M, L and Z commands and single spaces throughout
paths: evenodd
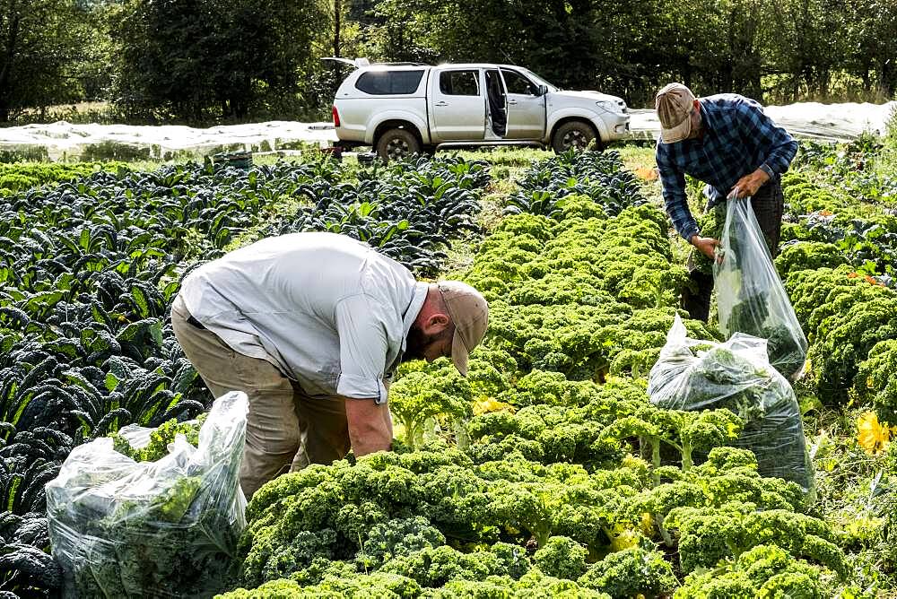
M 231 349 L 272 362 L 309 395 L 382 403 L 427 284 L 361 241 L 309 232 L 202 265 L 180 294 Z

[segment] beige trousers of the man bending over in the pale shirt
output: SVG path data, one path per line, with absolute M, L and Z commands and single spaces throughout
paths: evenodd
M 190 324 L 189 318 L 178 296 L 171 307 L 171 326 L 212 394 L 221 397 L 237 390 L 249 398 L 239 466 L 239 485 L 247 499 L 279 474 L 331 464 L 349 453 L 343 397 L 306 394 L 271 362 L 234 352 L 217 334 Z

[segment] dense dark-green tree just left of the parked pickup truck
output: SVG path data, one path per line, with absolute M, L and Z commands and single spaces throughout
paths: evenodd
M 116 31 L 116 102 L 144 117 L 246 117 L 311 79 L 328 21 L 318 2 L 135 0 Z

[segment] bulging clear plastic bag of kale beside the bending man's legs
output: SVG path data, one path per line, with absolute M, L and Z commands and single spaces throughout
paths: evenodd
M 178 434 L 155 461 L 119 453 L 112 438 L 75 447 L 46 486 L 65 597 L 209 597 L 227 587 L 246 523 L 247 410 L 245 394 L 223 395 L 196 447 Z M 149 440 L 132 439 L 141 436 Z

